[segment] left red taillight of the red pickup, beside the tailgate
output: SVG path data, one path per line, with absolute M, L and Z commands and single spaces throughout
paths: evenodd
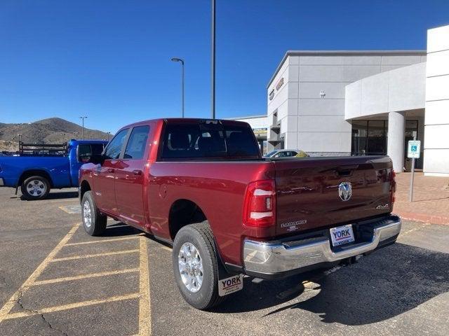
M 243 203 L 243 224 L 266 228 L 276 223 L 276 185 L 274 180 L 248 184 Z

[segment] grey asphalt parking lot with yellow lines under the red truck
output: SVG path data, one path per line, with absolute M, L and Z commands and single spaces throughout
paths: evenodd
M 74 189 L 27 202 L 0 188 L 0 335 L 448 335 L 449 225 L 403 223 L 347 267 L 246 279 L 206 312 L 178 293 L 169 247 L 80 224 Z

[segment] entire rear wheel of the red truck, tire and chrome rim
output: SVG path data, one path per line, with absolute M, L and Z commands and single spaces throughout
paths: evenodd
M 173 272 L 182 297 L 196 309 L 209 309 L 218 295 L 218 266 L 208 221 L 181 228 L 173 242 Z

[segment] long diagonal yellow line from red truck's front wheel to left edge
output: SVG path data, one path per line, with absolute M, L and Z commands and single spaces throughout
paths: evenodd
M 4 321 L 5 319 L 9 318 L 8 316 L 10 315 L 8 314 L 11 311 L 11 309 L 13 309 L 17 300 L 21 297 L 21 295 L 23 295 L 23 293 L 25 293 L 25 291 L 27 291 L 29 286 L 32 286 L 34 281 L 36 281 L 36 279 L 43 272 L 43 269 L 47 267 L 48 263 L 51 262 L 53 258 L 55 258 L 55 255 L 61 250 L 62 246 L 64 246 L 67 243 L 67 241 L 69 241 L 69 239 L 72 237 L 72 235 L 74 235 L 76 229 L 79 228 L 80 224 L 81 223 L 76 223 L 74 226 L 72 226 L 67 235 L 65 235 L 61 239 L 58 245 L 56 245 L 55 248 L 53 248 L 53 250 L 46 256 L 43 262 L 41 262 L 41 264 L 36 269 L 34 269 L 34 272 L 32 272 L 32 274 L 28 277 L 28 279 L 25 280 L 24 283 L 22 283 L 22 286 L 20 286 L 20 288 L 11 296 L 11 298 L 6 302 L 6 304 L 4 304 L 3 307 L 1 307 L 0 323 L 1 321 Z

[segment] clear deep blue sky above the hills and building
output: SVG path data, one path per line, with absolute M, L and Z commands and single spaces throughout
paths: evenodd
M 266 113 L 286 50 L 425 49 L 449 1 L 217 0 L 217 118 Z M 0 2 L 0 123 L 60 117 L 115 132 L 210 116 L 210 1 Z

